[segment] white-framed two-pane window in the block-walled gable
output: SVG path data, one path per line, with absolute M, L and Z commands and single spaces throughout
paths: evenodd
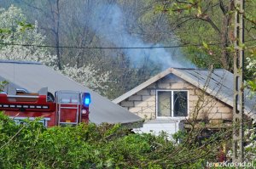
M 157 91 L 157 117 L 188 115 L 188 91 Z

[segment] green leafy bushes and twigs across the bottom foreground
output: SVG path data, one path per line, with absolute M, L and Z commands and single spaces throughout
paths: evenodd
M 220 135 L 198 143 L 177 133 L 177 144 L 119 125 L 17 126 L 0 112 L 0 168 L 202 168 L 216 160 Z

